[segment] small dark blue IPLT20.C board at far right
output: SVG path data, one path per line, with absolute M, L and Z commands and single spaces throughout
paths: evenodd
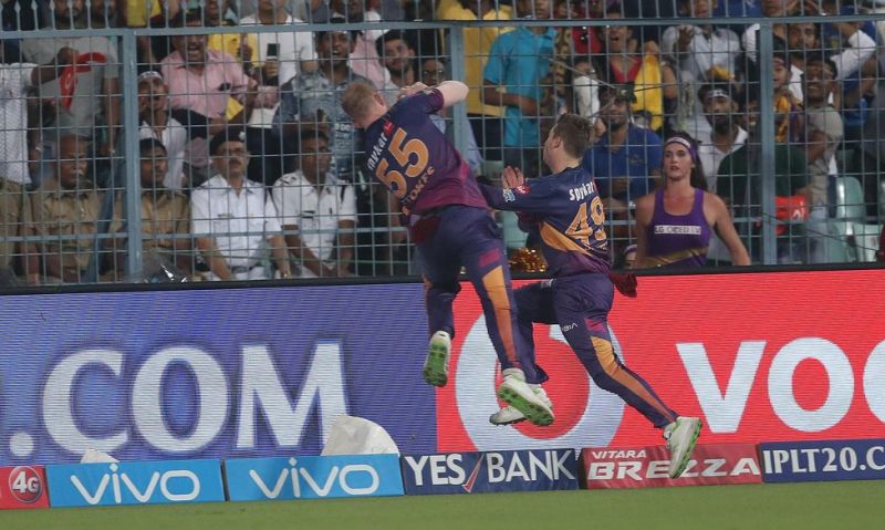
M 760 444 L 766 482 L 885 479 L 885 439 Z

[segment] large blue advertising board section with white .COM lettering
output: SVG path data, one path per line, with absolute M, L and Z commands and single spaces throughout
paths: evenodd
M 420 299 L 417 284 L 3 297 L 0 464 L 319 455 L 342 414 L 433 453 Z

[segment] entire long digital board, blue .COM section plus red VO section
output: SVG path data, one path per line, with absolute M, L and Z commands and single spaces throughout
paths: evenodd
M 667 405 L 704 419 L 704 444 L 881 439 L 881 285 L 885 270 L 643 277 L 610 329 Z M 439 389 L 420 376 L 417 283 L 3 297 L 0 465 L 319 455 L 342 414 L 403 454 L 662 443 L 555 325 L 534 329 L 555 422 L 490 425 L 500 370 L 462 288 Z

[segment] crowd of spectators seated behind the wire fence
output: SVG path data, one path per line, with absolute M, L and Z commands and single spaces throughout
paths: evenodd
M 583 164 L 605 201 L 616 264 L 634 249 L 636 201 L 660 186 L 664 141 L 676 133 L 694 142 L 706 189 L 727 205 L 753 262 L 769 222 L 779 262 L 844 261 L 834 241 L 851 232 L 836 219 L 885 216 L 883 34 L 872 21 L 799 15 L 875 9 L 862 0 L 2 0 L 4 31 L 77 31 L 0 37 L 0 267 L 29 284 L 131 279 L 126 219 L 136 214 L 126 206 L 140 204 L 144 252 L 192 279 L 414 272 L 407 232 L 363 168 L 361 132 L 340 96 L 363 81 L 393 103 L 403 86 L 450 76 L 452 61 L 470 94 L 434 119 L 462 141 L 479 178 L 503 165 L 544 174 L 541 146 L 556 116 L 591 118 Z M 782 18 L 771 50 L 742 17 Z M 632 25 L 637 18 L 662 20 Z M 565 19 L 607 22 L 556 23 Z M 465 27 L 461 48 L 450 49 L 446 30 L 385 24 L 403 20 L 512 25 Z M 137 94 L 125 98 L 121 42 L 92 30 L 144 27 L 168 32 L 136 38 Z M 241 31 L 212 30 L 230 27 Z M 771 94 L 760 90 L 763 62 Z M 123 129 L 126 105 L 137 106 L 137 131 Z M 775 219 L 762 214 L 766 106 Z M 139 200 L 126 197 L 126 142 L 138 146 Z M 855 190 L 858 204 L 846 204 Z M 715 236 L 707 258 L 730 263 Z

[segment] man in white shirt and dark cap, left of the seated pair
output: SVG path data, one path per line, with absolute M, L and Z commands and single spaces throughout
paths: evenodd
M 210 280 L 270 278 L 264 241 L 281 278 L 291 277 L 277 209 L 266 188 L 246 178 L 249 152 L 241 129 L 228 129 L 209 144 L 216 175 L 190 196 L 191 229 L 209 266 Z

